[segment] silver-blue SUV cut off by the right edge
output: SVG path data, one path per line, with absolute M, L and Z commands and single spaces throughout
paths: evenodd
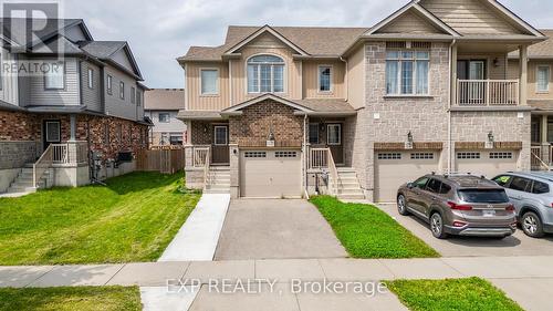
M 553 234 L 553 173 L 505 173 L 493 182 L 505 188 L 526 236 Z

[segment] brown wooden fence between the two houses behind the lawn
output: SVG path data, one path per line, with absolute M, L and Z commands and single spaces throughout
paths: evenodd
M 185 149 L 139 151 L 136 154 L 137 170 L 154 170 L 161 174 L 175 174 L 185 168 Z

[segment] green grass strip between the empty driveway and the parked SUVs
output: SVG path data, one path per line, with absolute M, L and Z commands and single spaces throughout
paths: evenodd
M 311 198 L 355 258 L 439 257 L 439 253 L 377 207 L 330 196 Z

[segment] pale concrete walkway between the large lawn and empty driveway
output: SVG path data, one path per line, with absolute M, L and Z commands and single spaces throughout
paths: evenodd
M 204 194 L 158 261 L 212 260 L 230 195 Z

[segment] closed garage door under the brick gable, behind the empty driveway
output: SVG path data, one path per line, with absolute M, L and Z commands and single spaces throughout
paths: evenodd
M 300 151 L 243 151 L 240 162 L 242 197 L 301 197 Z

